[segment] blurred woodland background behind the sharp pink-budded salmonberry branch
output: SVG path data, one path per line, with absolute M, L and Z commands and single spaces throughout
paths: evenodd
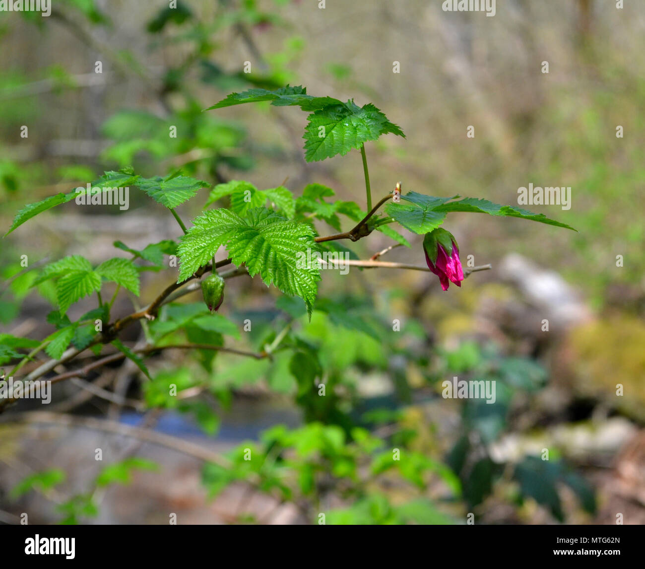
M 645 523 L 645 5 L 497 0 L 494 17 L 441 5 L 58 0 L 49 17 L 0 13 L 3 233 L 25 204 L 126 166 L 296 196 L 315 182 L 364 206 L 360 153 L 306 163 L 296 108 L 202 112 L 287 84 L 371 102 L 401 126 L 406 139 L 366 145 L 376 199 L 398 181 L 508 205 L 530 183 L 570 186 L 568 210 L 523 207 L 578 230 L 453 214 L 444 227 L 462 261 L 491 270 L 448 292 L 427 272 L 323 271 L 311 322 L 259 279 L 228 281 L 221 312 L 237 333 L 225 344 L 284 350 L 165 350 L 148 361 L 152 381 L 119 361 L 57 384 L 46 407 L 12 406 L 0 417 L 0 521 Z M 184 221 L 202 192 L 177 208 Z M 141 250 L 178 229 L 136 190 L 124 212 L 72 202 L 35 217 L 0 241 L 0 332 L 55 330 L 52 289 L 32 286 L 21 255 L 36 269 L 72 254 L 97 264 L 127 257 L 114 241 Z M 424 265 L 421 237 L 402 234 L 412 247 L 384 260 Z M 348 248 L 368 259 L 394 244 L 375 232 Z M 121 295 L 113 315 L 150 302 L 175 271 L 141 272 L 141 304 Z M 93 307 L 83 299 L 70 318 Z M 455 375 L 494 379 L 497 402 L 443 399 Z M 167 397 L 170 383 L 184 396 Z

